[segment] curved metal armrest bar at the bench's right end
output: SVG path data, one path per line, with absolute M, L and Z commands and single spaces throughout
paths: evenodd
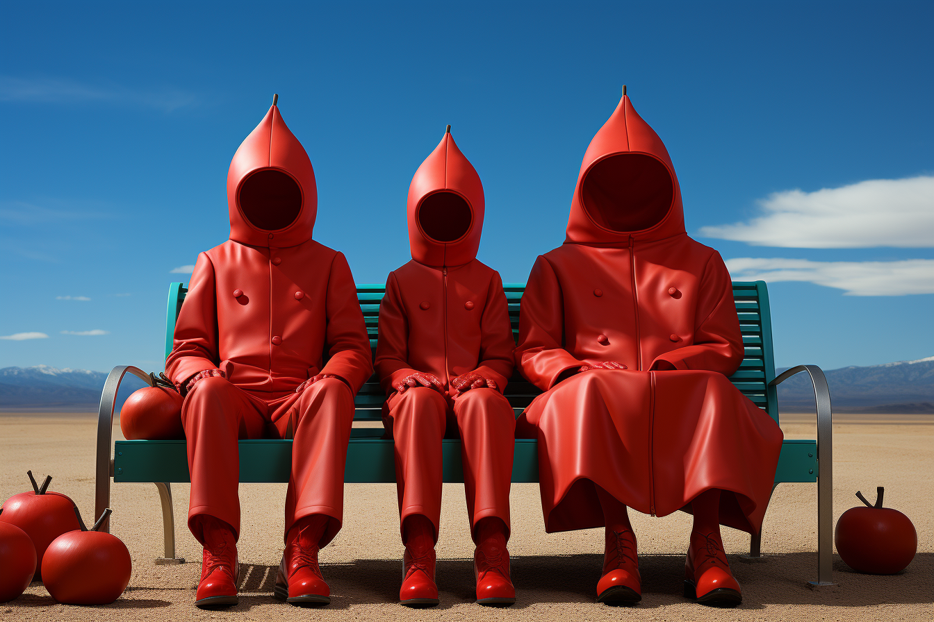
M 833 585 L 833 411 L 824 372 L 816 365 L 794 366 L 769 385 L 778 385 L 806 371 L 814 385 L 817 404 L 817 581 L 816 586 Z

